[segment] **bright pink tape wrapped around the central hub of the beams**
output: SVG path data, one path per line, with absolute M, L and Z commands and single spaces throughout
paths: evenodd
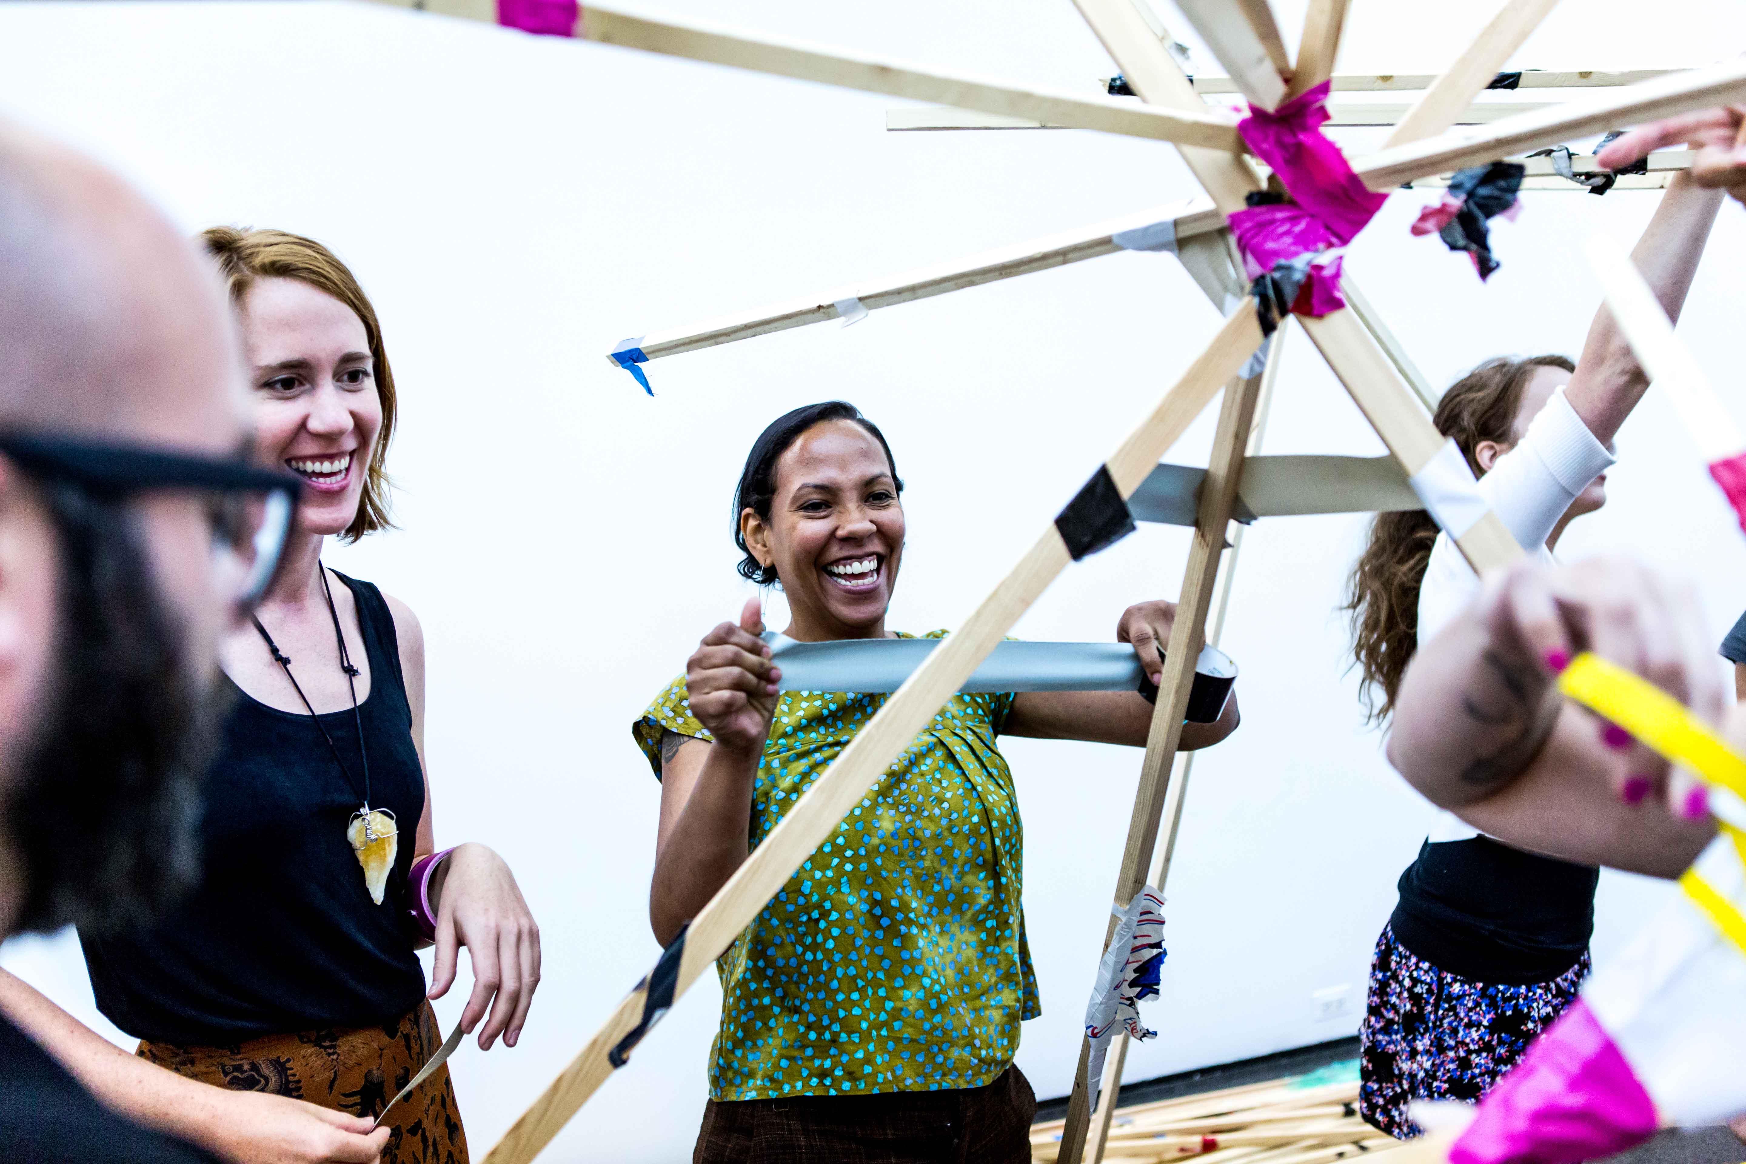
M 1329 82 L 1280 108 L 1250 108 L 1236 131 L 1248 148 L 1273 168 L 1296 204 L 1250 206 L 1231 215 L 1231 230 L 1248 260 L 1250 277 L 1280 260 L 1329 251 L 1311 267 L 1294 311 L 1325 316 L 1346 305 L 1339 293 L 1339 250 L 1357 237 L 1388 199 L 1369 190 L 1351 173 L 1346 155 L 1327 140 Z

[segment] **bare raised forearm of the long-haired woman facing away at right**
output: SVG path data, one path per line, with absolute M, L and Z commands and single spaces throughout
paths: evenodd
M 1660 206 L 1655 208 L 1655 216 L 1631 251 L 1631 260 L 1674 323 L 1685 307 L 1687 291 L 1692 290 L 1697 260 L 1704 255 L 1718 206 L 1722 206 L 1720 190 L 1706 190 L 1688 175 L 1674 175 L 1660 197 Z M 1613 323 L 1612 312 L 1601 307 L 1589 326 L 1589 339 L 1582 344 L 1582 356 L 1564 394 L 1589 431 L 1605 445 L 1612 443 L 1646 387 L 1648 377 L 1631 346 Z

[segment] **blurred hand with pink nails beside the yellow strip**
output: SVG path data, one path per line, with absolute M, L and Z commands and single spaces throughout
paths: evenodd
M 1463 696 L 1470 717 L 1484 721 L 1489 702 L 1543 698 L 1578 651 L 1643 675 L 1711 724 L 1729 707 L 1697 593 L 1636 562 L 1592 558 L 1559 569 L 1521 562 L 1486 586 L 1475 613 L 1488 633 L 1484 661 L 1502 686 L 1491 700 Z M 1613 780 L 1627 805 L 1653 799 L 1683 820 L 1708 813 L 1694 777 L 1669 768 L 1617 724 L 1601 722 L 1596 731 L 1627 761 Z

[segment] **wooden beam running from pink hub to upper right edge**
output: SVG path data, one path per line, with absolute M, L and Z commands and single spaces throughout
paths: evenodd
M 1561 145 L 1591 133 L 1622 129 L 1743 98 L 1746 98 L 1746 61 L 1734 59 L 1594 96 L 1571 98 L 1549 110 L 1505 117 L 1484 129 L 1458 129 L 1385 148 L 1358 159 L 1353 171 L 1372 190 L 1392 190 L 1414 178 L 1495 162 L 1510 154 Z

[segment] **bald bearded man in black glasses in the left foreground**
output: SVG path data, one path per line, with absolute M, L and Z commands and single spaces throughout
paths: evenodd
M 0 937 L 138 925 L 197 876 L 217 642 L 297 496 L 248 464 L 232 326 L 138 194 L 0 126 Z M 368 1162 L 388 1140 L 152 1066 L 5 974 L 0 1010 L 9 1162 Z

